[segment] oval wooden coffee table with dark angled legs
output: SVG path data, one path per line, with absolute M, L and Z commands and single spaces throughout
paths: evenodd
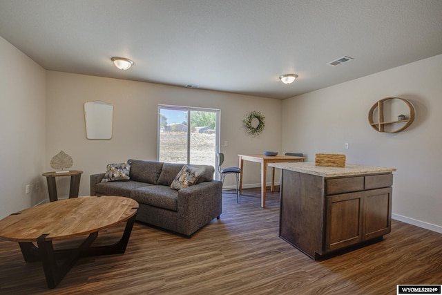
M 0 220 L 0 238 L 19 242 L 27 263 L 41 261 L 46 283 L 55 288 L 77 260 L 85 256 L 122 254 L 131 236 L 138 203 L 116 196 L 49 202 Z M 91 247 L 98 231 L 126 221 L 122 238 L 113 245 Z M 54 249 L 53 240 L 88 234 L 75 249 Z M 37 242 L 36 247 L 34 242 Z M 64 260 L 61 265 L 57 260 Z

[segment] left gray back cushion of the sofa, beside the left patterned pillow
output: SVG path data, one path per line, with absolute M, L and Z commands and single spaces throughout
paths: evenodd
M 128 160 L 131 163 L 131 180 L 157 184 L 163 169 L 163 162 Z

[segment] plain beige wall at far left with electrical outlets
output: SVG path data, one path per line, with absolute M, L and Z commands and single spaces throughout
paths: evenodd
M 45 198 L 41 173 L 46 162 L 46 71 L 2 37 L 0 56 L 0 218 L 4 218 Z

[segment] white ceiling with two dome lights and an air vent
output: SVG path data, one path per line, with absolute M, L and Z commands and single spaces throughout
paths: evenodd
M 0 36 L 47 70 L 283 99 L 442 54 L 442 0 L 0 0 Z

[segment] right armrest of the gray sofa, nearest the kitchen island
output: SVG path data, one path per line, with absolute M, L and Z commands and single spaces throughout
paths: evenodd
M 182 229 L 182 232 L 189 231 L 189 235 L 218 218 L 222 213 L 222 182 L 213 180 L 180 189 L 177 211 L 181 224 L 191 227 Z

